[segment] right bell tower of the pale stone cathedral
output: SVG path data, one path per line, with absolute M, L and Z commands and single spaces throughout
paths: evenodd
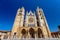
M 51 37 L 51 33 L 48 28 L 48 24 L 44 16 L 43 10 L 39 7 L 37 7 L 37 10 L 36 10 L 36 17 L 37 17 L 37 25 L 38 27 L 42 28 L 44 37 Z

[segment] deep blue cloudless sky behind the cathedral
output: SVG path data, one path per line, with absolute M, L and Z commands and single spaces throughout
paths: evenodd
M 0 30 L 11 30 L 18 8 L 36 11 L 37 6 L 44 10 L 51 32 L 58 31 L 60 25 L 60 0 L 0 0 Z

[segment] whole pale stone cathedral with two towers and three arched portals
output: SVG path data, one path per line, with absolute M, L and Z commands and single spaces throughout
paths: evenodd
M 51 37 L 44 12 L 37 7 L 36 12 L 26 12 L 24 7 L 19 8 L 13 24 L 11 36 L 18 38 L 48 38 Z M 25 19 L 24 19 L 25 17 Z

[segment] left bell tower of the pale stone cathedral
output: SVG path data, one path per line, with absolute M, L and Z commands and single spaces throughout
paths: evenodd
M 18 9 L 15 17 L 14 25 L 12 28 L 12 35 L 16 35 L 18 28 L 23 27 L 24 13 L 25 13 L 24 7 Z

